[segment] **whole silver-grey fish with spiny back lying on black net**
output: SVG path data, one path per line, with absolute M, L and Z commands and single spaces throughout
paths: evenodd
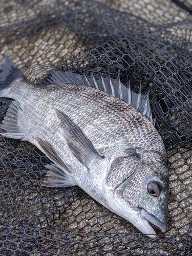
M 1 135 L 53 162 L 42 186 L 77 185 L 149 238 L 166 231 L 167 154 L 148 95 L 119 77 L 64 70 L 32 84 L 8 56 L 0 70 L 0 97 L 13 99 Z

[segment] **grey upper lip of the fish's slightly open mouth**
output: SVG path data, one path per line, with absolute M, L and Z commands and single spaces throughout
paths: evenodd
M 150 224 L 153 224 L 154 227 L 156 227 L 163 233 L 166 232 L 166 225 L 147 210 L 142 208 L 140 211 L 140 216 L 142 219 L 145 219 L 146 221 L 150 222 Z

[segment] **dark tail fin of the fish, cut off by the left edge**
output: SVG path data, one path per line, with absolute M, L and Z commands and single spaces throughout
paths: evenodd
M 15 63 L 8 56 L 3 57 L 0 66 L 0 97 L 8 97 L 7 89 L 16 78 L 26 80 L 26 77 L 16 67 Z

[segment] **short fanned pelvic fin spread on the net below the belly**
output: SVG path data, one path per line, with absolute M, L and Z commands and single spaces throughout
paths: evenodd
M 44 177 L 44 181 L 41 183 L 42 186 L 46 187 L 70 187 L 74 186 L 75 183 L 72 182 L 66 172 L 63 172 L 56 164 L 47 164 L 45 166 L 49 170 L 47 171 L 47 175 Z

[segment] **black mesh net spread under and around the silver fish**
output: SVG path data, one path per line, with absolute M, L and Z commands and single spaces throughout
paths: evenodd
M 150 92 L 170 174 L 168 228 L 151 240 L 77 186 L 41 187 L 49 160 L 1 137 L 0 255 L 192 255 L 192 2 L 2 0 L 0 10 L 0 59 L 30 82 L 70 69 Z

